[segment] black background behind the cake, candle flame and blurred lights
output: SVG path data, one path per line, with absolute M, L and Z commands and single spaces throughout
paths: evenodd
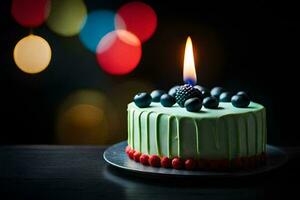
M 85 2 L 90 11 L 116 10 L 126 1 Z M 110 131 L 111 134 L 117 132 L 118 136 L 106 143 L 126 138 L 128 97 L 119 98 L 120 92 L 124 95 L 126 92 L 114 89 L 136 80 L 162 89 L 181 84 L 185 40 L 191 35 L 197 50 L 198 84 L 248 91 L 253 101 L 267 108 L 268 143 L 298 145 L 297 120 L 292 120 L 291 116 L 297 113 L 299 92 L 296 71 L 300 28 L 295 3 L 262 0 L 144 2 L 156 11 L 158 27 L 143 45 L 139 66 L 125 76 L 106 74 L 78 36 L 56 35 L 45 24 L 34 33 L 51 45 L 51 63 L 40 74 L 23 73 L 14 64 L 12 52 L 29 30 L 11 17 L 11 2 L 1 2 L 0 143 L 61 144 L 55 133 L 58 110 L 63 100 L 79 89 L 101 91 L 112 103 L 120 105 L 116 112 L 120 118 L 109 122 L 110 125 L 120 124 L 118 129 Z M 137 91 L 138 88 L 136 84 Z

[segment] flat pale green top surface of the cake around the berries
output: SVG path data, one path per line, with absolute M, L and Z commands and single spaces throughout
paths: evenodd
M 247 108 L 234 107 L 230 102 L 220 102 L 219 108 L 207 109 L 202 107 L 199 112 L 189 112 L 185 108 L 175 104 L 172 107 L 163 107 L 160 103 L 152 102 L 147 108 L 139 108 L 135 103 L 131 102 L 128 104 L 128 109 L 136 109 L 145 112 L 155 112 L 157 114 L 168 114 L 178 117 L 189 117 L 189 118 L 219 118 L 226 115 L 244 114 L 251 113 L 258 110 L 264 109 L 264 106 L 255 102 L 250 102 Z

